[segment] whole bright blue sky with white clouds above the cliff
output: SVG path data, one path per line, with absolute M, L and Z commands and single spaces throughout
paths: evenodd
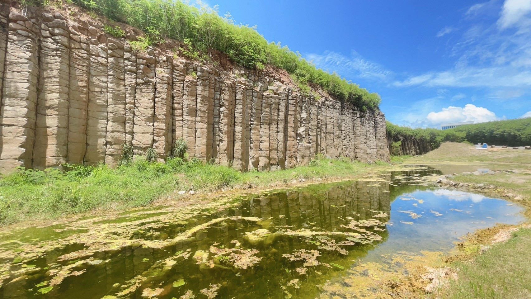
M 531 0 L 208 0 L 372 92 L 392 123 L 531 116 Z

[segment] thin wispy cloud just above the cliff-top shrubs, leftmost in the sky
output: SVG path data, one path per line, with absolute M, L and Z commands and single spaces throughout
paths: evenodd
M 325 51 L 323 54 L 307 54 L 306 59 L 313 61 L 315 66 L 323 69 L 336 71 L 341 76 L 347 78 L 372 79 L 390 81 L 393 72 L 387 70 L 382 65 L 368 61 L 356 51 L 352 51 L 350 56 L 339 53 Z

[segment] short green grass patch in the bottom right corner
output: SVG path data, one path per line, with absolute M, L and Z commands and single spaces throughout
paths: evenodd
M 473 262 L 456 262 L 458 279 L 440 298 L 531 297 L 531 229 L 520 229 L 506 243 L 495 244 Z

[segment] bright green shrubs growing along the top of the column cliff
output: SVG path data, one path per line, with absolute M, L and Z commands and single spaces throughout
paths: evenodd
M 62 1 L 62 0 L 57 0 Z M 144 31 L 146 37 L 138 41 L 145 45 L 163 42 L 164 38 L 181 40 L 182 52 L 192 59 L 210 49 L 219 50 L 234 62 L 250 69 L 264 69 L 265 65 L 286 70 L 301 91 L 308 92 L 314 83 L 337 99 L 350 102 L 362 110 L 378 109 L 381 98 L 357 84 L 341 79 L 337 73 L 316 69 L 297 52 L 280 42 L 268 42 L 255 27 L 235 24 L 230 15 L 220 16 L 216 8 L 197 8 L 174 0 L 65 0 L 106 18 Z M 50 0 L 22 0 L 23 3 L 49 5 Z M 111 30 L 112 29 L 112 30 Z M 108 26 L 109 32 L 116 31 Z

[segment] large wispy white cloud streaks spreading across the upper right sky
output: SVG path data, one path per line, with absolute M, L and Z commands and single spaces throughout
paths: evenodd
M 531 91 L 531 1 L 489 1 L 470 6 L 466 16 L 497 11 L 498 20 L 463 21 L 465 29 L 451 46 L 457 57 L 451 69 L 415 74 L 393 82 L 396 87 L 520 88 Z M 525 24 L 525 25 L 523 25 Z M 518 30 L 504 30 L 510 26 Z M 440 36 L 448 30 L 441 30 Z M 438 34 L 439 36 L 439 34 Z

